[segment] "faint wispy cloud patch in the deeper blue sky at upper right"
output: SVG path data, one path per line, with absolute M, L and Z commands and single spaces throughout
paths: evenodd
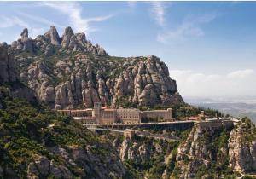
M 161 43 L 167 43 L 170 41 L 183 41 L 189 37 L 202 37 L 205 32 L 201 25 L 215 20 L 217 16 L 218 14 L 204 14 L 200 17 L 188 15 L 177 28 L 160 32 L 157 35 L 157 40 Z

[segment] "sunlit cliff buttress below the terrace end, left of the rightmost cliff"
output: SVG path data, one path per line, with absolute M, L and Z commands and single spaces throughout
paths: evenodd
M 180 178 L 195 178 L 200 168 L 210 168 L 213 163 L 224 162 L 220 159 L 227 157 L 227 147 L 224 144 L 218 146 L 215 133 L 217 131 L 194 127 L 187 140 L 177 148 L 176 160 Z M 207 172 L 205 175 L 207 176 Z

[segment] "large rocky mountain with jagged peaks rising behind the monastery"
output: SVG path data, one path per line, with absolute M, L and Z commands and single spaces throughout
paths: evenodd
M 24 29 L 8 48 L 20 80 L 56 109 L 92 107 L 96 101 L 117 107 L 183 104 L 176 81 L 158 57 L 110 56 L 71 27 L 60 37 L 51 26 L 35 39 Z

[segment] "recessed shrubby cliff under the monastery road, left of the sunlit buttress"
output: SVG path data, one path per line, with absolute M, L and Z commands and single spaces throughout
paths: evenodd
M 149 131 L 148 135 L 150 135 Z M 159 133 L 159 135 L 166 135 L 166 133 Z M 111 138 L 120 159 L 126 168 L 128 166 L 129 172 L 133 172 L 131 178 L 169 178 L 170 168 L 172 168 L 170 165 L 175 159 L 172 152 L 177 147 L 178 141 L 162 141 L 143 136 Z

